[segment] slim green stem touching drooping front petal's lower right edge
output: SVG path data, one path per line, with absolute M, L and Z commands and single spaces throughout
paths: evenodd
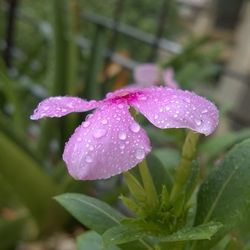
M 143 160 L 139 164 L 139 171 L 141 174 L 144 189 L 147 194 L 148 204 L 154 207 L 159 203 L 159 200 L 146 160 Z

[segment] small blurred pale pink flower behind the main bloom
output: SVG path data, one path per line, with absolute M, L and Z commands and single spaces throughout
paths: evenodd
M 134 70 L 135 82 L 141 87 L 160 85 L 163 83 L 169 88 L 179 88 L 178 83 L 173 79 L 174 72 L 172 68 L 161 70 L 156 64 L 140 64 Z

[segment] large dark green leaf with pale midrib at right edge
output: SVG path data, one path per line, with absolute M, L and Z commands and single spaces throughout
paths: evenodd
M 224 227 L 197 249 L 209 249 L 232 228 L 249 218 L 250 139 L 236 145 L 202 184 L 198 194 L 196 224 L 221 222 Z M 208 248 L 205 248 L 208 247 Z

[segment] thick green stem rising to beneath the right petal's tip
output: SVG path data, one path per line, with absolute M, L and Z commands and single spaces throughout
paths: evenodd
M 189 131 L 182 148 L 182 158 L 176 169 L 175 182 L 170 194 L 170 201 L 176 202 L 183 194 L 185 183 L 191 174 L 191 162 L 196 153 L 199 134 Z

